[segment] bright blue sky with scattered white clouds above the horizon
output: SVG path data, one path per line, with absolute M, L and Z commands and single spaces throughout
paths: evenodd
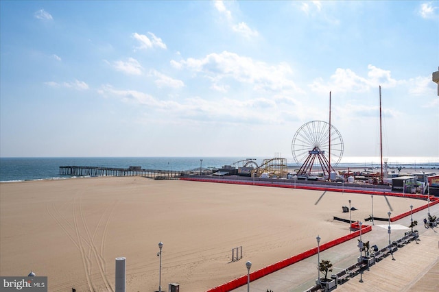
M 0 156 L 439 158 L 438 1 L 1 1 Z

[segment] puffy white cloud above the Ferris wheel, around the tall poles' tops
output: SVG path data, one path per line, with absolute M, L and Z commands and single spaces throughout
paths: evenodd
M 368 65 L 368 69 L 368 76 L 361 77 L 351 69 L 337 68 L 335 73 L 331 75 L 329 82 L 325 83 L 322 78 L 318 78 L 309 84 L 309 87 L 313 91 L 326 93 L 331 90 L 337 92 L 362 93 L 380 85 L 390 88 L 403 83 L 403 81 L 394 80 L 390 71 L 379 69 L 370 64 Z

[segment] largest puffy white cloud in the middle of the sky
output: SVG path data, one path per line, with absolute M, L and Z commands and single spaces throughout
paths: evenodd
M 180 62 L 173 61 L 171 64 L 209 78 L 213 82 L 213 88 L 220 88 L 222 91 L 227 86 L 220 84 L 220 82 L 227 82 L 229 79 L 252 84 L 254 90 L 301 91 L 289 78 L 289 75 L 292 75 L 292 69 L 286 63 L 270 65 L 239 56 L 237 53 L 223 51 L 222 53 L 211 53 L 201 59 L 188 58 Z

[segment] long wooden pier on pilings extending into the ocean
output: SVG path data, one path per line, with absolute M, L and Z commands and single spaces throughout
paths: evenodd
M 156 180 L 173 180 L 188 175 L 186 171 L 169 171 L 159 169 L 142 169 L 141 167 L 128 167 L 128 169 L 115 167 L 80 167 L 61 166 L 60 175 L 71 176 L 141 176 Z

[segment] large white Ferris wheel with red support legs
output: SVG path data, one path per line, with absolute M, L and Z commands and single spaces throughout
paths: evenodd
M 342 160 L 344 145 L 342 135 L 331 125 L 331 160 L 329 160 L 329 123 L 309 121 L 294 134 L 291 149 L 298 165 L 311 164 L 311 168 L 312 164 L 316 163 L 323 167 L 331 162 L 329 165 L 335 167 Z

